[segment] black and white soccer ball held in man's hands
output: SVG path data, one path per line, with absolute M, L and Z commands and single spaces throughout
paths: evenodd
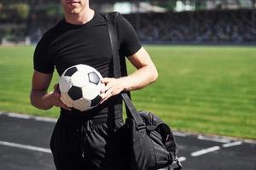
M 88 111 L 101 101 L 102 75 L 89 65 L 73 65 L 60 77 L 61 102 L 79 111 Z

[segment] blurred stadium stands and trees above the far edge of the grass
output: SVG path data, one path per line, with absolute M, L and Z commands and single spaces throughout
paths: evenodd
M 148 43 L 255 43 L 255 0 L 94 0 L 119 11 Z M 1 0 L 0 42 L 36 43 L 62 19 L 58 0 Z

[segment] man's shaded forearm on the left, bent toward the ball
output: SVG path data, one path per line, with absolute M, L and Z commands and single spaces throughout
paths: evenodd
M 48 110 L 53 107 L 51 94 L 41 90 L 32 90 L 30 94 L 31 104 L 38 109 Z

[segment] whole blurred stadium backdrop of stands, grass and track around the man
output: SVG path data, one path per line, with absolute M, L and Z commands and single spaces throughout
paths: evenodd
M 256 169 L 256 0 L 90 0 L 90 7 L 119 11 L 137 31 L 159 78 L 132 99 L 172 127 L 185 169 Z M 0 0 L 3 169 L 55 169 L 49 138 L 59 110 L 33 108 L 29 94 L 35 46 L 62 19 L 59 0 Z M 27 145 L 39 149 L 20 149 Z

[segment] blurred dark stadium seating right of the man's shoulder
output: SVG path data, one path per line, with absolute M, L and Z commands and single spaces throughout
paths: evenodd
M 133 15 L 125 17 L 136 26 Z M 144 42 L 256 42 L 253 17 L 250 9 L 140 14 L 137 33 Z

